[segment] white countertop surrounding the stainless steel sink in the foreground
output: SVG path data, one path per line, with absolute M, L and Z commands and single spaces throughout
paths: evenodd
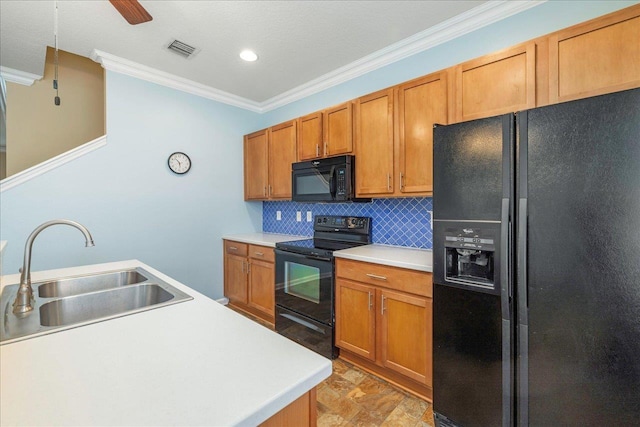
M 330 360 L 136 260 L 32 279 L 138 266 L 194 299 L 0 346 L 0 425 L 255 426 L 331 374 Z

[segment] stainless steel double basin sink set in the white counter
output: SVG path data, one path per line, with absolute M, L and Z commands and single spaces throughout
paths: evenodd
M 33 283 L 33 310 L 15 315 L 18 287 L 0 296 L 0 345 L 193 299 L 139 267 Z

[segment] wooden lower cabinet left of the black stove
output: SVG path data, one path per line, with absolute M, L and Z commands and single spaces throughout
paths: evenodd
M 224 294 L 229 305 L 271 324 L 275 314 L 273 248 L 224 241 Z

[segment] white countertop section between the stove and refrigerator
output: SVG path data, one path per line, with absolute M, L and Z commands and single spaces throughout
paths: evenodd
M 403 246 L 365 245 L 335 251 L 336 258 L 373 262 L 419 271 L 433 271 L 432 251 Z

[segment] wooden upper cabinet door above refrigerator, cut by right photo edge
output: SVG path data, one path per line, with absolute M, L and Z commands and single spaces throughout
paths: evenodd
M 549 101 L 640 86 L 640 6 L 549 37 Z

